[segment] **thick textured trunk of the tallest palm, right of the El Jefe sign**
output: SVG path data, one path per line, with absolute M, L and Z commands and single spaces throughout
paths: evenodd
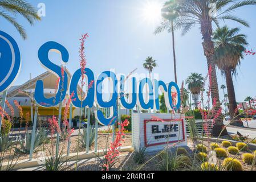
M 212 21 L 210 20 L 210 17 L 206 17 L 205 19 L 201 20 L 201 34 L 203 36 L 204 42 L 202 43 L 202 46 L 204 48 L 205 56 L 207 59 L 208 64 L 208 70 L 210 67 L 212 68 L 212 88 L 210 88 L 212 92 L 212 102 L 216 100 L 217 106 L 214 108 L 214 110 L 217 111 L 220 109 L 220 94 L 218 90 L 218 81 L 217 81 L 217 75 L 216 75 L 216 66 L 214 63 L 214 43 L 212 42 L 212 34 L 213 34 L 213 28 L 212 28 Z M 221 135 L 227 135 L 227 130 L 224 128 L 223 118 L 222 114 L 216 119 L 216 123 L 214 123 L 212 135 L 214 137 L 218 137 Z M 222 131 L 222 132 L 221 132 Z

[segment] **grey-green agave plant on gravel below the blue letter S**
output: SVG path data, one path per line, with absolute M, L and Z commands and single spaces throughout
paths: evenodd
M 23 142 L 23 140 L 19 140 L 18 143 L 21 146 L 21 148 L 16 147 L 15 150 L 23 154 L 29 154 L 31 140 L 32 140 L 32 134 L 27 132 L 25 136 L 25 143 Z M 39 149 L 39 146 L 43 143 L 47 143 L 49 140 L 50 139 L 47 137 L 46 129 L 44 128 L 38 129 L 35 133 L 34 152 L 37 152 Z

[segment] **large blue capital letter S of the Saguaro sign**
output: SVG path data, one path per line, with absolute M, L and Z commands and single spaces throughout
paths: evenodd
M 52 72 L 54 75 L 60 78 L 58 92 L 56 93 L 55 97 L 51 98 L 44 97 L 43 81 L 39 80 L 36 82 L 35 101 L 37 102 L 37 104 L 43 107 L 52 107 L 58 105 L 59 102 L 62 102 L 64 100 L 67 92 L 67 73 L 66 71 L 64 71 L 64 79 L 62 79 L 62 68 L 52 63 L 48 58 L 48 53 L 50 51 L 60 52 L 64 63 L 67 63 L 69 58 L 67 49 L 59 43 L 47 42 L 43 44 L 42 47 L 40 47 L 38 51 L 38 57 L 43 67 L 45 67 L 46 69 L 48 69 L 48 71 Z

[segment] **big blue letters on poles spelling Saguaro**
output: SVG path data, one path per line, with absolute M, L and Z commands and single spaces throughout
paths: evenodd
M 54 75 L 62 77 L 62 68 L 58 65 L 52 63 L 48 58 L 48 53 L 51 50 L 55 50 L 59 52 L 62 56 L 62 61 L 64 63 L 68 62 L 68 51 L 62 45 L 56 42 L 47 42 L 40 47 L 38 51 L 38 57 L 40 63 L 46 68 L 48 71 L 54 73 Z M 101 73 L 97 80 L 95 81 L 94 72 L 91 69 L 86 68 L 85 74 L 87 77 L 87 82 L 94 81 L 91 89 L 88 90 L 88 93 L 84 100 L 82 101 L 82 107 L 91 108 L 94 104 L 97 104 L 101 108 L 110 108 L 110 117 L 105 118 L 104 113 L 101 110 L 95 111 L 95 117 L 102 125 L 113 125 L 117 120 L 117 102 L 123 107 L 124 109 L 133 109 L 136 105 L 140 107 L 140 109 L 156 109 L 159 110 L 159 89 L 161 89 L 162 93 L 165 94 L 165 104 L 170 110 L 177 110 L 180 108 L 180 89 L 178 85 L 174 82 L 170 82 L 169 84 L 165 84 L 163 81 L 159 80 L 150 80 L 149 78 L 143 78 L 143 80 L 136 80 L 136 77 L 131 78 L 131 86 L 132 86 L 132 93 L 129 93 L 129 98 L 131 98 L 131 102 L 128 103 L 124 99 L 124 84 L 125 78 L 121 76 L 120 78 L 120 89 L 118 89 L 118 80 L 115 73 L 111 71 L 105 71 Z M 68 87 L 68 79 L 67 73 L 64 71 L 64 78 L 61 79 L 63 82 L 59 83 L 58 92 L 56 92 L 56 96 L 52 98 L 47 98 L 44 96 L 44 88 L 43 88 L 43 81 L 38 81 L 36 83 L 35 88 L 35 101 L 38 105 L 43 107 L 52 107 L 58 105 L 60 102 L 64 100 L 66 96 L 67 90 L 69 90 L 68 94 L 75 93 L 75 99 L 72 101 L 72 105 L 75 107 L 81 107 L 81 101 L 79 98 L 79 94 L 77 92 L 79 80 L 81 77 L 81 69 L 79 68 L 71 78 L 70 85 Z M 102 87 L 103 81 L 105 79 L 109 79 L 112 82 L 112 93 L 111 93 L 111 100 L 104 101 Z M 145 93 L 143 90 L 145 86 L 149 88 L 149 99 L 145 101 Z M 173 103 L 172 98 L 172 89 L 176 89 L 177 92 L 177 102 Z M 120 100 L 119 100 L 120 98 Z

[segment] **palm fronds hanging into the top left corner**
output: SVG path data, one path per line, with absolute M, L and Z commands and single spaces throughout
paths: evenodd
M 23 16 L 31 25 L 40 20 L 36 10 L 24 0 L 0 0 L 0 16 L 14 25 L 23 39 L 27 38 L 25 29 L 15 19 L 17 14 Z M 13 15 L 13 16 L 12 16 Z

